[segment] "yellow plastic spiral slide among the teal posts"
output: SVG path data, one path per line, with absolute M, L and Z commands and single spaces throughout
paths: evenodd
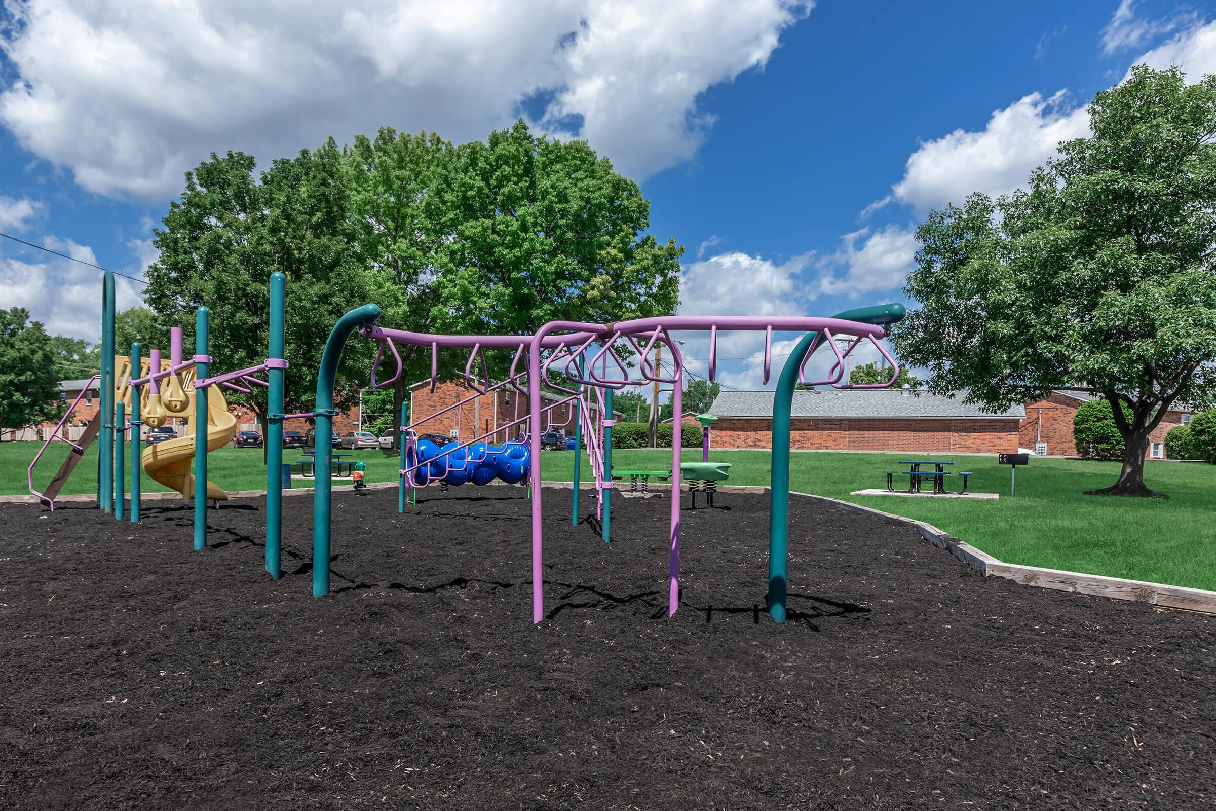
M 179 396 L 185 398 L 185 407 L 175 410 L 169 404 L 169 387 L 165 387 L 164 406 L 159 402 L 147 402 L 148 413 L 145 419 L 148 424 L 152 424 L 152 417 L 157 413 L 158 409 L 162 409 L 161 413 L 169 413 L 176 417 L 188 417 L 191 421 L 195 416 L 195 388 L 193 388 L 193 376 L 182 374 L 184 385 L 181 383 L 175 383 L 180 385 L 178 388 Z M 171 378 L 170 378 L 171 379 Z M 147 398 L 151 400 L 151 398 Z M 164 424 L 163 419 L 159 424 Z M 224 447 L 230 441 L 232 437 L 236 435 L 236 417 L 229 413 L 227 401 L 224 399 L 224 394 L 220 392 L 220 387 L 210 387 L 210 392 L 207 394 L 207 452 L 212 452 L 219 447 Z M 148 445 L 143 449 L 143 469 L 147 472 L 152 479 L 159 481 L 170 490 L 176 490 L 181 494 L 182 501 L 190 501 L 195 497 L 195 474 L 190 472 L 191 462 L 195 458 L 195 428 L 193 426 L 186 432 L 185 437 L 179 439 L 167 439 L 156 445 Z M 213 484 L 207 483 L 207 499 L 209 501 L 226 501 L 229 497 L 227 492 Z

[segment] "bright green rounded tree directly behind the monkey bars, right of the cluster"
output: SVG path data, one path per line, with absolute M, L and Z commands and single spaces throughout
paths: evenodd
M 435 328 L 528 333 L 675 311 L 683 248 L 646 232 L 649 201 L 586 141 L 517 122 L 457 148 L 445 195 Z

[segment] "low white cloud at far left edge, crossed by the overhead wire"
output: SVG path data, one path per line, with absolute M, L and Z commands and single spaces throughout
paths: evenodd
M 71 240 L 47 236 L 41 243 L 74 259 L 97 264 L 91 248 Z M 39 257 L 39 260 L 27 261 L 0 253 L 0 309 L 24 308 L 51 334 L 83 338 L 90 343 L 100 340 L 102 272 L 51 254 L 32 255 Z M 122 272 L 135 276 L 139 270 L 131 267 Z M 118 311 L 141 304 L 142 286 L 122 276 L 116 276 L 114 281 Z

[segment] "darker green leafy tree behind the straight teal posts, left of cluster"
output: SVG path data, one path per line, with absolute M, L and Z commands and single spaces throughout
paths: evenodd
M 213 373 L 266 357 L 270 274 L 287 276 L 288 412 L 310 411 L 325 338 L 347 310 L 367 299 L 355 244 L 343 156 L 333 140 L 313 152 L 275 160 L 254 178 L 254 160 L 240 152 L 212 156 L 186 174 L 153 244 L 161 255 L 147 271 L 145 300 L 168 323 L 192 326 L 195 310 L 212 311 Z M 191 330 L 192 332 L 192 330 Z M 193 347 L 187 347 L 187 355 Z M 338 407 L 358 401 L 367 351 L 358 342 L 343 354 L 348 384 Z M 265 390 L 227 393 L 265 424 Z

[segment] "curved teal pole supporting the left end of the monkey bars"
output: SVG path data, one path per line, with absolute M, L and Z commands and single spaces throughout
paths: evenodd
M 379 308 L 365 304 L 338 319 L 321 353 L 321 367 L 316 372 L 316 467 L 315 489 L 313 490 L 313 596 L 330 593 L 330 508 L 333 495 L 333 483 L 330 477 L 333 461 L 333 445 L 330 441 L 333 432 L 333 384 L 338 377 L 338 361 L 342 349 L 347 345 L 355 330 L 371 325 L 379 317 Z

